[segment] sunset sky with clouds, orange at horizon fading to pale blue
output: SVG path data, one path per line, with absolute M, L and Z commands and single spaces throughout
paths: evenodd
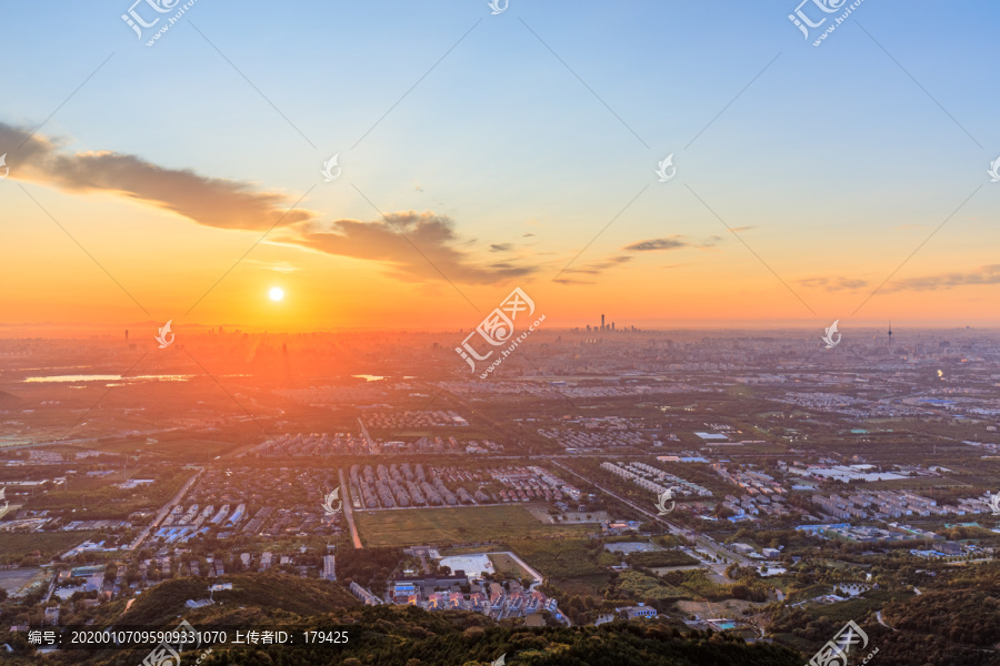
M 340 8 L 336 71 L 287 17 L 294 53 L 218 21 L 228 62 L 83 9 L 122 56 L 11 34 L 0 324 L 468 329 L 520 286 L 551 327 L 1000 325 L 996 100 L 961 73 L 988 21 L 883 26 L 914 85 L 858 31 L 647 9 L 414 6 L 371 43 Z M 646 56 L 663 31 L 683 58 Z

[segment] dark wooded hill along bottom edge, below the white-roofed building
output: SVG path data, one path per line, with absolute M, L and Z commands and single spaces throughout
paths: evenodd
M 177 592 L 177 591 L 174 591 Z M 153 595 L 150 595 L 153 596 Z M 228 608 L 228 609 L 227 609 Z M 140 609 L 149 613 L 149 608 Z M 131 617 L 136 617 L 129 614 Z M 801 666 L 802 657 L 780 646 L 748 645 L 721 634 L 682 634 L 656 623 L 612 623 L 599 627 L 523 628 L 496 623 L 482 615 L 457 610 L 428 613 L 416 607 L 339 608 L 321 617 L 298 617 L 274 608 L 224 606 L 186 614 L 199 628 L 220 620 L 264 623 L 284 616 L 292 645 L 214 646 L 211 653 L 189 650 L 184 666 L 488 666 L 506 655 L 510 666 Z M 268 617 L 266 617 L 268 616 Z M 163 627 L 177 622 L 171 618 Z M 216 625 L 219 626 L 219 625 Z M 242 625 L 244 628 L 248 625 Z M 266 625 L 256 625 L 266 626 Z M 306 628 L 344 629 L 338 645 L 306 645 Z M 62 653 L 50 665 L 134 666 L 148 650 Z

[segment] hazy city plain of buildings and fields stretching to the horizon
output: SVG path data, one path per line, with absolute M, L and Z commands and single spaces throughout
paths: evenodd
M 308 594 L 338 626 L 414 607 L 803 650 L 850 617 L 889 655 L 992 603 L 996 334 L 597 324 L 489 382 L 431 370 L 458 331 L 180 335 L 149 364 L 131 331 L 0 342 L 9 645 L 250 603 L 277 624 Z

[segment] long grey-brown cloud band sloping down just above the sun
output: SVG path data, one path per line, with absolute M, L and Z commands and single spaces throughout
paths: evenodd
M 62 145 L 40 135 L 29 139 L 27 131 L 0 123 L 0 154 L 8 153 L 12 179 L 69 192 L 123 195 L 218 229 L 263 231 L 279 224 L 273 234 L 277 240 L 338 256 L 384 262 L 390 275 L 400 280 L 493 284 L 537 271 L 511 263 L 478 265 L 473 253 L 463 249 L 471 241 L 459 236 L 452 220 L 430 211 L 396 212 L 376 221 L 320 222 L 312 211 L 286 213 L 293 203 L 288 195 L 261 191 L 250 183 L 164 169 L 134 155 L 71 153 Z M 494 252 L 510 249 L 508 244 L 491 248 Z

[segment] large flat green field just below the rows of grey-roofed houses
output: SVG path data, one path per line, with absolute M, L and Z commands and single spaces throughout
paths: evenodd
M 546 525 L 522 506 L 470 506 L 354 512 L 366 546 L 412 546 L 519 538 L 583 536 L 590 525 Z

